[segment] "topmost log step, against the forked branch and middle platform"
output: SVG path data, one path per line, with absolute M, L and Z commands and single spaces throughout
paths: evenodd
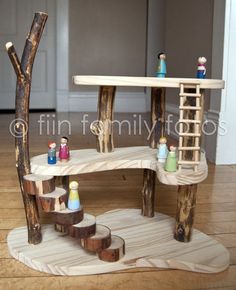
M 30 195 L 42 195 L 55 190 L 55 180 L 51 175 L 28 174 L 23 176 L 24 192 Z

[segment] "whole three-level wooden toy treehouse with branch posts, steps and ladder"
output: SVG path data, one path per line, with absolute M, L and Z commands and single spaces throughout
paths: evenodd
M 207 235 L 193 230 L 197 186 L 207 177 L 205 154 L 201 152 L 204 90 L 222 89 L 224 82 L 187 78 L 74 76 L 76 85 L 100 86 L 99 122 L 91 127 L 96 135 L 97 150 L 72 150 L 67 162 L 56 164 L 48 164 L 47 154 L 30 160 L 27 126 L 32 66 L 46 20 L 45 13 L 35 14 L 21 62 L 13 44 L 6 45 L 17 75 L 16 166 L 27 220 L 27 227 L 14 229 L 8 236 L 11 255 L 29 267 L 61 275 L 98 274 L 135 267 L 206 273 L 227 268 L 227 250 Z M 115 148 L 112 120 L 117 86 L 151 88 L 151 125 L 156 126 L 149 146 Z M 157 143 L 165 130 L 166 88 L 178 88 L 180 91 L 176 172 L 165 171 L 164 164 L 156 159 Z M 129 168 L 143 169 L 141 210 L 118 209 L 95 218 L 84 213 L 79 203 L 68 208 L 69 176 Z M 63 184 L 56 188 L 55 177 L 60 176 Z M 154 212 L 155 190 L 158 190 L 156 178 L 163 184 L 178 186 L 175 221 Z M 77 183 L 71 184 L 70 190 L 73 190 L 72 201 L 73 196 L 78 200 Z M 52 215 L 53 226 L 41 225 L 38 207 Z M 58 252 L 59 248 L 63 251 Z M 116 263 L 107 263 L 114 261 Z

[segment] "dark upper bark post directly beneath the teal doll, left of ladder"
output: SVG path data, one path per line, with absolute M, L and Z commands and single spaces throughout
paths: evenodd
M 151 128 L 150 147 L 157 148 L 161 136 L 165 134 L 166 88 L 152 88 L 151 92 Z

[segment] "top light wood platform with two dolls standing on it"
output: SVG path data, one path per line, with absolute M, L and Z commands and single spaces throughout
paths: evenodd
M 135 87 L 165 87 L 179 88 L 181 83 L 199 84 L 200 89 L 223 89 L 225 82 L 214 79 L 190 79 L 190 78 L 156 78 L 156 77 L 125 77 L 125 76 L 73 76 L 75 85 L 96 86 L 135 86 Z

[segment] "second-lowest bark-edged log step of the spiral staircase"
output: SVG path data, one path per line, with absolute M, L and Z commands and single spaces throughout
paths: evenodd
M 81 246 L 88 251 L 98 252 L 111 245 L 111 230 L 103 225 L 96 225 L 94 236 L 80 239 Z

